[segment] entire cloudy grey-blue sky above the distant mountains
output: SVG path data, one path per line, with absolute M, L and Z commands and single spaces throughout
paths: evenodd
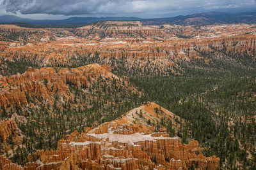
M 0 15 L 32 19 L 158 18 L 207 11 L 256 11 L 256 0 L 0 0 Z

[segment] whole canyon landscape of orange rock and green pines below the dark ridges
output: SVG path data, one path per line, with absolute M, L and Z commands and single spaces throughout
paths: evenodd
M 143 23 L 0 25 L 2 169 L 255 168 L 255 24 Z

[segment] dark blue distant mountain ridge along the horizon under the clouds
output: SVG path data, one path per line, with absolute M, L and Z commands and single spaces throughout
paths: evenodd
M 245 13 L 225 13 L 211 11 L 209 13 L 195 13 L 192 15 L 179 15 L 168 18 L 138 18 L 138 17 L 70 17 L 62 20 L 30 20 L 28 18 L 19 18 L 13 15 L 0 16 L 0 24 L 9 24 L 13 22 L 24 22 L 31 25 L 81 25 L 92 24 L 93 22 L 106 20 L 138 20 L 145 25 L 161 25 L 172 23 L 177 25 L 209 25 L 209 24 L 253 24 L 256 23 L 256 12 Z

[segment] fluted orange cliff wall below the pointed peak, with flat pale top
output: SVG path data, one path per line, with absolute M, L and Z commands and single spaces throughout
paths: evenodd
M 129 137 L 129 143 L 125 143 L 118 142 L 118 139 L 127 138 L 127 135 L 109 135 L 106 133 L 94 135 L 90 134 L 90 131 L 89 134 L 74 132 L 58 142 L 56 151 L 38 151 L 40 161 L 34 164 L 28 163 L 24 169 L 65 169 L 71 166 L 74 169 L 176 170 L 188 169 L 195 162 L 201 169 L 220 168 L 220 159 L 202 155 L 195 140 L 188 145 L 182 145 L 179 138 L 150 137 L 135 133 L 127 134 L 131 138 Z M 115 136 L 119 138 L 113 138 Z M 135 142 L 138 140 L 136 138 L 147 140 Z M 10 161 L 3 157 L 1 159 L 3 160 L 0 166 L 13 166 Z

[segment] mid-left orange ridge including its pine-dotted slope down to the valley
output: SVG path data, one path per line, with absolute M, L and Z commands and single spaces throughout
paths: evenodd
M 137 104 L 143 94 L 127 78 L 110 70 L 110 66 L 99 64 L 72 69 L 29 67 L 23 74 L 1 76 L 1 152 L 10 152 L 8 156 L 13 157 L 17 146 L 28 149 L 31 145 L 30 152 L 42 145 L 52 148 L 61 134 L 106 122 L 122 114 L 118 111 L 127 110 L 128 102 Z M 113 109 L 114 104 L 120 107 Z M 55 144 L 42 143 L 43 136 Z

